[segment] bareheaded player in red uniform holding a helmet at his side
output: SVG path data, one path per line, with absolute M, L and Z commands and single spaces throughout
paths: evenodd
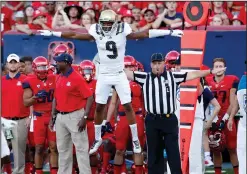
M 223 68 L 226 66 L 226 62 L 223 58 L 215 58 L 213 61 L 213 68 Z M 234 102 L 234 95 L 238 87 L 238 78 L 233 75 L 225 75 L 225 72 L 217 73 L 215 76 L 206 78 L 214 97 L 217 99 L 221 106 L 221 110 L 218 114 L 217 124 L 223 119 L 223 117 L 229 117 L 231 113 L 232 105 Z M 232 125 L 232 131 L 228 129 L 227 124 Z M 224 133 L 226 136 L 226 148 L 228 149 L 231 163 L 234 169 L 234 173 L 238 174 L 238 157 L 236 152 L 237 147 L 237 130 L 236 124 L 233 118 L 229 118 L 224 127 Z M 222 156 L 220 152 L 213 152 L 214 168 L 216 174 L 221 174 Z

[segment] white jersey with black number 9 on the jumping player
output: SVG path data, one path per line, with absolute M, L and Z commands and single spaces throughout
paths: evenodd
M 98 48 L 100 74 L 115 74 L 124 69 L 126 36 L 131 32 L 127 23 L 118 23 L 110 35 L 105 35 L 99 24 L 91 25 L 89 34 L 94 37 Z

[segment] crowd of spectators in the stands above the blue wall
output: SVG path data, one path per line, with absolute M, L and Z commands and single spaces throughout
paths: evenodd
M 2 2 L 2 31 L 17 30 L 32 34 L 40 29 L 89 29 L 98 22 L 102 10 L 112 9 L 118 20 L 127 22 L 133 31 L 146 29 L 191 29 L 183 19 L 185 2 Z M 202 25 L 246 25 L 246 3 L 210 2 L 207 20 Z M 3 34 L 3 33 L 2 33 Z

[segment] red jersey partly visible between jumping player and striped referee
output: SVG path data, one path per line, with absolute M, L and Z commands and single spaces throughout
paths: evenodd
M 131 89 L 131 98 L 132 98 L 132 107 L 135 112 L 141 111 L 143 109 L 143 97 L 142 97 L 142 89 L 139 84 L 136 82 L 130 82 L 130 89 Z M 120 104 L 119 105 L 119 112 L 124 112 L 124 107 Z

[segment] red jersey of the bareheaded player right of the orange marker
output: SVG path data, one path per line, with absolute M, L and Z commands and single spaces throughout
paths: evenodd
M 224 116 L 230 105 L 230 90 L 238 87 L 239 79 L 234 75 L 226 75 L 219 83 L 213 76 L 206 78 L 206 81 L 221 106 L 219 116 Z

